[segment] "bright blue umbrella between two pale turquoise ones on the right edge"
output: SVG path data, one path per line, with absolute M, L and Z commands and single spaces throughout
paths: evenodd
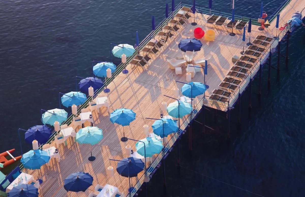
M 159 135 L 161 138 L 167 137 L 171 133 L 178 131 L 177 120 L 161 118 L 164 121 L 164 135 L 163 135 L 163 121 L 156 120 L 152 124 L 152 131 L 154 134 Z

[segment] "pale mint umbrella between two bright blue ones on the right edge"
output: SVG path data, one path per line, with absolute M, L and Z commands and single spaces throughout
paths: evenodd
M 191 113 L 192 110 L 193 108 L 191 104 L 184 101 L 179 101 L 179 107 L 178 107 L 178 101 L 172 102 L 167 106 L 168 115 L 173 116 L 174 118 L 178 118 L 178 117 L 182 118 L 183 116 Z

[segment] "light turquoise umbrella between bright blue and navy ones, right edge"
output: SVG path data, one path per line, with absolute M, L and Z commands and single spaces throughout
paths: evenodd
M 137 152 L 142 156 L 145 156 L 144 153 L 146 153 L 146 157 L 152 157 L 154 154 L 159 154 L 163 148 L 162 142 L 156 138 L 147 137 L 140 141 L 145 143 L 145 151 L 144 143 L 142 142 L 137 142 L 135 144 L 135 148 L 137 149 Z

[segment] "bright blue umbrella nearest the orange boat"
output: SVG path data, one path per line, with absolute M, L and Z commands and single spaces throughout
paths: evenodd
M 48 163 L 49 160 L 50 156 L 48 156 L 48 152 L 38 149 L 24 153 L 20 161 L 25 168 L 34 170 L 40 169 L 40 167 L 43 164 Z

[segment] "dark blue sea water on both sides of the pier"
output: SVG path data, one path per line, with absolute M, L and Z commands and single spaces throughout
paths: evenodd
M 111 42 L 134 45 L 135 32 L 140 40 L 145 38 L 151 31 L 151 16 L 160 22 L 165 4 L 171 5 L 162 0 L 0 2 L 0 152 L 16 148 L 15 154 L 20 153 L 18 128 L 41 124 L 40 109 L 58 108 L 58 93 L 75 91 L 75 76 L 92 75 L 92 60 L 110 61 Z M 196 3 L 208 5 L 207 0 Z M 282 0 L 264 3 L 264 10 L 273 13 Z M 219 9 L 230 10 L 230 4 L 213 1 Z M 260 2 L 235 1 L 235 13 L 258 16 L 259 9 Z M 203 134 L 196 127 L 192 154 L 187 136 L 181 141 L 180 176 L 173 167 L 175 147 L 166 160 L 169 196 L 256 196 L 201 174 L 263 196 L 304 196 L 304 34 L 302 27 L 293 33 L 289 68 L 282 60 L 279 82 L 276 71 L 271 71 L 270 91 L 264 67 L 261 105 L 254 94 L 251 119 L 248 91 L 242 96 L 242 129 L 237 132 L 237 110 L 233 110 L 235 134 L 229 146 L 218 135 Z M 275 64 L 276 57 L 272 61 Z M 256 79 L 254 93 L 257 84 Z M 23 148 L 30 145 L 23 143 Z M 158 196 L 162 176 L 159 170 L 149 182 L 149 196 Z

